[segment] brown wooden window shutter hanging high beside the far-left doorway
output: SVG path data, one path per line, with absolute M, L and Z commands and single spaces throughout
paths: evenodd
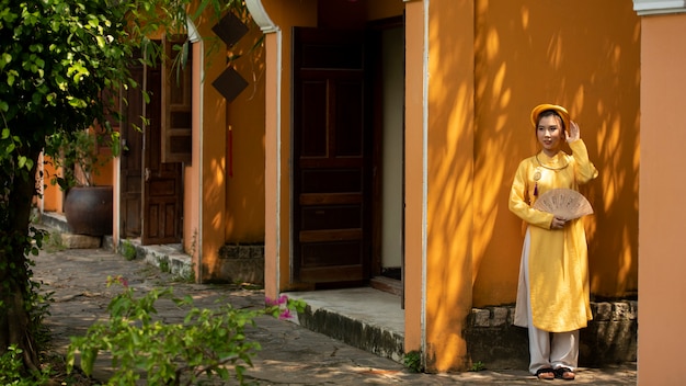
M 193 55 L 183 36 L 163 39 L 162 162 L 191 162 L 193 107 L 191 103 Z M 180 50 L 179 48 L 182 47 Z

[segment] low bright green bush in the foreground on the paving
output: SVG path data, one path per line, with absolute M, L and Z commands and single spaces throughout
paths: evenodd
M 80 353 L 81 370 L 90 375 L 99 353 L 112 354 L 115 368 L 110 384 L 133 385 L 146 375 L 149 385 L 192 385 L 201 376 L 236 378 L 243 384 L 243 375 L 252 365 L 252 356 L 260 344 L 245 338 L 245 328 L 254 326 L 261 315 L 291 317 L 302 311 L 305 303 L 285 296 L 267 299 L 261 309 L 237 309 L 230 304 L 218 309 L 199 309 L 190 296 L 176 298 L 171 288 L 155 288 L 135 296 L 122 276 L 108 277 L 107 285 L 122 285 L 107 309 L 110 318 L 93 323 L 84 337 L 72 337 L 67 353 L 68 370 L 73 370 Z M 169 298 L 186 309 L 179 323 L 155 318 L 155 303 Z

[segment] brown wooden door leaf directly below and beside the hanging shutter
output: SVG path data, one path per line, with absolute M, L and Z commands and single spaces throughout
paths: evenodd
M 159 67 L 147 68 L 146 89 L 151 93 L 146 106 L 144 129 L 142 245 L 181 241 L 181 163 L 162 162 L 162 76 Z

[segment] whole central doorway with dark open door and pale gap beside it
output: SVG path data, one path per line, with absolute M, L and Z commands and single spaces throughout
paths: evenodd
M 293 277 L 401 295 L 404 29 L 294 29 Z

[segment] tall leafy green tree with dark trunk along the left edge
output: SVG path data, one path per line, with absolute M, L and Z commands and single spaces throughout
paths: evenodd
M 27 372 L 39 366 L 27 257 L 42 237 L 30 226 L 41 154 L 58 159 L 55 140 L 91 127 L 116 154 L 110 121 L 122 121 L 122 91 L 138 87 L 132 66 L 159 63 L 150 37 L 186 33 L 188 18 L 211 25 L 230 10 L 244 14 L 244 1 L 0 0 L 0 326 L 15 331 L 0 334 L 0 355 L 16 344 Z

